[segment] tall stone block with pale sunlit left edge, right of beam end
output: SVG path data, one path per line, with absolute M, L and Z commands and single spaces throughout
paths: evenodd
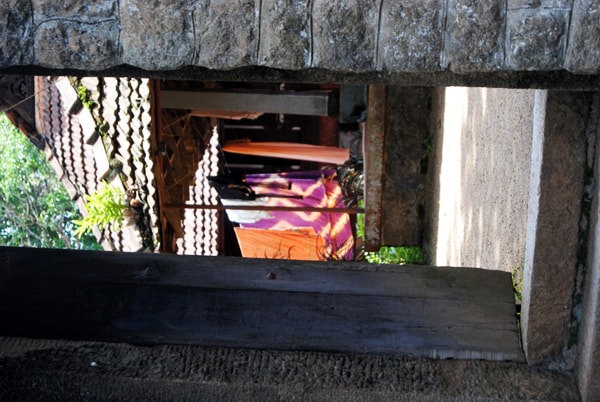
M 563 364 L 568 347 L 590 104 L 589 93 L 536 98 L 521 312 L 532 364 Z

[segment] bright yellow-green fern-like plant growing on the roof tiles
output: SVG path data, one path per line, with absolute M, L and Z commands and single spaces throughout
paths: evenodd
M 126 194 L 116 186 L 104 182 L 104 186 L 94 194 L 86 194 L 85 208 L 88 214 L 80 220 L 76 220 L 77 230 L 75 234 L 81 237 L 91 232 L 94 226 L 99 229 L 119 229 L 123 222 Z

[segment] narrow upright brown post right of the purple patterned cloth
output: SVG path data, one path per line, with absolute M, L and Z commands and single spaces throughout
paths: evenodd
M 381 247 L 382 182 L 385 167 L 383 144 L 386 128 L 387 89 L 369 85 L 367 129 L 364 137 L 365 175 L 365 249 Z

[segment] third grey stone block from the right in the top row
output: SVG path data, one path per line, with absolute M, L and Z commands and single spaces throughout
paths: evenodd
M 449 0 L 442 67 L 458 73 L 501 69 L 504 9 L 500 0 Z

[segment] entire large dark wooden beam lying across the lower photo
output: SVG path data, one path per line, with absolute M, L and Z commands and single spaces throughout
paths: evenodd
M 0 248 L 0 336 L 522 360 L 510 275 Z

